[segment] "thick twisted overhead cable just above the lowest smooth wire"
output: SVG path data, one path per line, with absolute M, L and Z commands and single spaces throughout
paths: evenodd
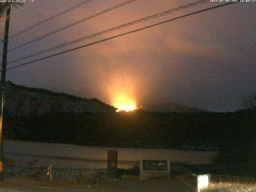
M 170 9 L 170 10 L 167 10 L 167 11 L 164 11 L 164 12 L 160 12 L 158 14 L 154 14 L 154 15 L 151 15 L 151 16 L 139 19 L 139 20 L 135 20 L 135 21 L 132 21 L 132 22 L 129 22 L 129 23 L 126 23 L 126 24 L 122 24 L 120 26 L 117 26 L 117 27 L 114 27 L 114 28 L 110 28 L 110 29 L 102 31 L 102 32 L 91 34 L 89 36 L 86 36 L 86 37 L 83 37 L 83 38 L 80 38 L 80 39 L 77 39 L 77 40 L 73 40 L 71 42 L 67 42 L 67 43 L 64 43 L 64 44 L 61 44 L 61 45 L 49 48 L 47 50 L 43 50 L 43 51 L 31 54 L 31 55 L 25 56 L 23 58 L 18 58 L 16 60 L 8 62 L 8 64 L 15 63 L 15 62 L 18 62 L 18 61 L 21 61 L 21 60 L 24 60 L 24 59 L 28 59 L 28 58 L 31 58 L 31 57 L 34 57 L 34 56 L 37 56 L 37 55 L 40 55 L 40 54 L 43 54 L 43 53 L 46 53 L 46 52 L 49 52 L 49 51 L 53 51 L 53 50 L 58 49 L 58 48 L 62 48 L 62 47 L 65 47 L 65 46 L 68 46 L 68 45 L 71 45 L 71 44 L 74 44 L 74 43 L 77 43 L 77 42 L 81 42 L 81 41 L 84 41 L 84 40 L 87 40 L 87 39 L 90 39 L 90 38 L 102 35 L 102 34 L 113 32 L 113 31 L 119 30 L 121 28 L 125 28 L 125 27 L 128 27 L 128 26 L 134 25 L 134 24 L 138 24 L 140 22 L 144 22 L 144 21 L 151 20 L 151 19 L 154 19 L 154 18 L 157 18 L 157 17 L 160 17 L 160 16 L 164 16 L 166 14 L 170 14 L 172 12 L 176 12 L 176 11 L 179 11 L 179 10 L 182 10 L 182 9 L 190 8 L 192 6 L 197 6 L 199 4 L 206 3 L 206 2 L 207 2 L 207 0 L 200 0 L 200 1 L 197 1 L 197 2 L 194 2 L 194 3 L 186 4 L 185 6 L 180 6 L 178 8 L 173 8 L 173 9 Z

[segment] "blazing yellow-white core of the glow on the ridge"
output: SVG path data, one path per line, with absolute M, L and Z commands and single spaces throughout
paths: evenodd
M 136 109 L 136 104 L 133 100 L 130 98 L 127 98 L 126 96 L 118 96 L 114 101 L 114 107 L 118 108 L 116 112 L 120 111 L 133 111 Z

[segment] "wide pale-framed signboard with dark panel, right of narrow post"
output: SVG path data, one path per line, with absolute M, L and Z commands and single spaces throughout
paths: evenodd
M 140 180 L 169 180 L 170 161 L 168 160 L 141 160 Z

